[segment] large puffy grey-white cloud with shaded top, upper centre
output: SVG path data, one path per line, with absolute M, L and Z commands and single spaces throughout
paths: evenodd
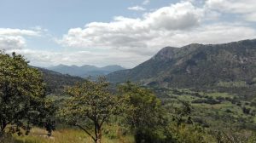
M 67 47 L 94 47 L 148 55 L 162 48 L 161 43 L 169 45 L 160 38 L 169 38 L 169 33 L 198 26 L 202 15 L 203 10 L 195 8 L 189 2 L 177 3 L 144 14 L 143 18 L 119 16 L 109 23 L 92 22 L 84 29 L 72 28 L 59 43 Z

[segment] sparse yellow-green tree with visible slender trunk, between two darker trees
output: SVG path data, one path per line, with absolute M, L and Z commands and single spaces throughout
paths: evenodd
M 95 82 L 86 80 L 67 88 L 67 99 L 60 112 L 68 124 L 84 130 L 96 143 L 102 141 L 102 126 L 110 116 L 118 112 L 119 98 L 109 91 L 109 83 L 104 77 Z M 91 130 L 94 130 L 91 134 Z

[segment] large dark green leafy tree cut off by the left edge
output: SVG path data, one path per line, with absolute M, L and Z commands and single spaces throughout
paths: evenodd
M 28 134 L 32 124 L 44 125 L 49 117 L 42 75 L 21 55 L 0 52 L 0 105 L 0 137 L 7 126 L 13 134 Z

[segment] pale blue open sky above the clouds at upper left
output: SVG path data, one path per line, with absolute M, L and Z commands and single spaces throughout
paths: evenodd
M 157 9 L 176 2 L 154 0 L 144 7 Z M 61 36 L 71 27 L 94 21 L 109 22 L 113 16 L 140 16 L 142 12 L 127 8 L 141 3 L 141 0 L 1 0 L 0 26 L 20 29 L 42 26 Z

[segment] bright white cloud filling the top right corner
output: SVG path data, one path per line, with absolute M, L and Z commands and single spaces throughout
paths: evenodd
M 245 20 L 256 21 L 255 0 L 207 0 L 206 6 L 224 13 L 241 14 Z

